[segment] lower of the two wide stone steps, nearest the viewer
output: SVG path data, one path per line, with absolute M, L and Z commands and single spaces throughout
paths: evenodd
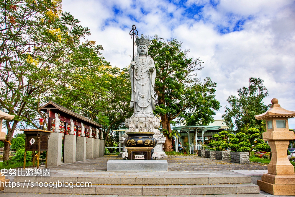
M 4 193 L 58 193 L 97 195 L 214 195 L 214 194 L 258 194 L 259 186 L 241 184 L 198 184 L 198 185 L 92 185 L 89 187 L 6 187 Z

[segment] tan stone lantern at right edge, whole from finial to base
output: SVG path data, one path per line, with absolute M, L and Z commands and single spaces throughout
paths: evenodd
M 294 140 L 294 132 L 289 131 L 288 118 L 295 117 L 294 111 L 288 111 L 278 104 L 278 99 L 271 100 L 271 108 L 263 114 L 255 115 L 257 120 L 266 120 L 267 130 L 263 140 L 271 147 L 271 162 L 268 173 L 257 181 L 260 190 L 273 195 L 294 195 L 294 166 L 289 162 L 287 148 L 289 140 Z

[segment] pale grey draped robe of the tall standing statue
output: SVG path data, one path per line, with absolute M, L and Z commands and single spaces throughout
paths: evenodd
M 150 56 L 136 56 L 134 60 L 136 62 L 135 90 L 133 90 L 133 69 L 131 68 L 131 66 L 129 69 L 132 87 L 130 108 L 135 107 L 135 114 L 133 114 L 132 116 L 154 117 L 154 89 L 156 78 L 155 63 Z M 154 67 L 154 71 L 149 70 L 150 66 Z

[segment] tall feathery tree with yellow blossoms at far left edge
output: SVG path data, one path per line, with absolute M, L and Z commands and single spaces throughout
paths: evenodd
M 70 51 L 90 32 L 69 13 L 62 12 L 60 0 L 1 1 L 0 13 L 0 108 L 15 115 L 14 120 L 4 121 L 8 131 L 5 161 L 19 123 L 37 128 L 36 118 L 46 118 L 36 107 L 63 77 Z

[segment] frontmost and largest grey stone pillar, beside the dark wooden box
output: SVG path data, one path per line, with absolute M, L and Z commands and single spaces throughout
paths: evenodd
M 63 133 L 51 133 L 48 139 L 47 165 L 61 165 L 61 152 L 63 147 Z

